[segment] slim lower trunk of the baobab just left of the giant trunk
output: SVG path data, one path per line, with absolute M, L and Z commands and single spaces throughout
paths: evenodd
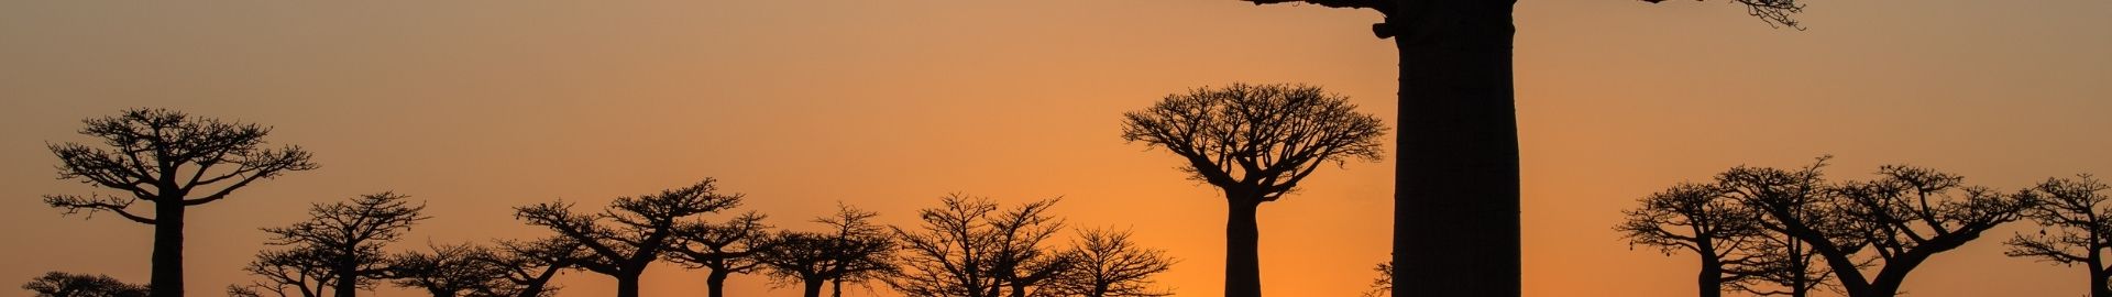
M 1255 230 L 1255 198 L 1227 190 L 1225 215 L 1225 297 L 1261 297 L 1261 255 L 1255 244 L 1261 232 Z

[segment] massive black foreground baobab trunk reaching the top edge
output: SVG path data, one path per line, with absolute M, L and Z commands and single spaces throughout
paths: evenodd
M 1400 48 L 1394 295 L 1516 297 L 1514 0 L 1390 0 Z

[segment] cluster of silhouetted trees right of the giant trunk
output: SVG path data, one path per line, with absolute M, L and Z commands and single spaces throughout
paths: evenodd
M 1892 297 L 1937 253 L 2032 219 L 2042 230 L 2004 242 L 2006 255 L 2085 265 L 2091 297 L 2112 297 L 2104 259 L 2112 204 L 2091 175 L 2002 192 L 1907 164 L 1880 166 L 1867 181 L 1827 181 L 1827 160 L 1734 166 L 1704 183 L 1677 183 L 1643 196 L 1614 230 L 1633 246 L 1696 255 L 1702 297 Z

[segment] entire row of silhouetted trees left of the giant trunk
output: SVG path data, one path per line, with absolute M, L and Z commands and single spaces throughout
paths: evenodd
M 1124 114 L 1121 139 L 1164 147 L 1191 179 L 1223 192 L 1227 215 L 1225 286 L 1259 295 L 1255 209 L 1282 200 L 1324 164 L 1379 160 L 1385 126 L 1356 112 L 1347 97 L 1303 84 L 1229 84 L 1168 95 L 1157 105 Z M 137 293 L 182 297 L 184 209 L 228 198 L 234 190 L 283 173 L 319 169 L 298 145 L 266 147 L 270 128 L 199 118 L 173 110 L 127 110 L 91 118 L 82 135 L 101 145 L 57 143 L 61 179 L 118 190 L 122 196 L 44 196 L 68 213 L 116 213 L 154 225 L 154 274 L 146 286 L 108 276 L 59 274 L 25 289 L 53 295 Z M 213 187 L 207 187 L 213 185 Z M 152 217 L 135 202 L 146 200 Z M 313 204 L 308 219 L 264 227 L 272 238 L 243 270 L 237 297 L 353 297 L 382 284 L 433 297 L 545 297 L 564 272 L 617 280 L 617 297 L 638 297 L 653 263 L 708 270 L 710 297 L 724 295 L 733 274 L 798 284 L 803 295 L 843 295 L 843 286 L 885 284 L 934 297 L 1162 297 L 1172 291 L 1151 276 L 1174 265 L 1164 251 L 1140 246 L 1130 232 L 1069 232 L 1052 209 L 1056 198 L 1001 206 L 991 198 L 953 194 L 919 211 L 921 225 L 881 225 L 879 213 L 838 204 L 811 219 L 824 232 L 777 230 L 767 215 L 737 213 L 741 194 L 716 179 L 644 196 L 621 196 L 598 209 L 553 200 L 515 206 L 513 217 L 549 230 L 545 238 L 496 242 L 429 242 L 395 251 L 425 204 L 380 192 Z M 1073 238 L 1073 240 L 1062 240 Z

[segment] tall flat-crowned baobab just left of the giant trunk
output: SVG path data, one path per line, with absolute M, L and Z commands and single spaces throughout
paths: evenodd
M 1225 295 L 1261 295 L 1255 209 L 1280 200 L 1322 164 L 1379 160 L 1385 124 L 1318 86 L 1231 84 L 1166 95 L 1124 114 L 1121 139 L 1166 147 L 1181 171 L 1225 192 Z

